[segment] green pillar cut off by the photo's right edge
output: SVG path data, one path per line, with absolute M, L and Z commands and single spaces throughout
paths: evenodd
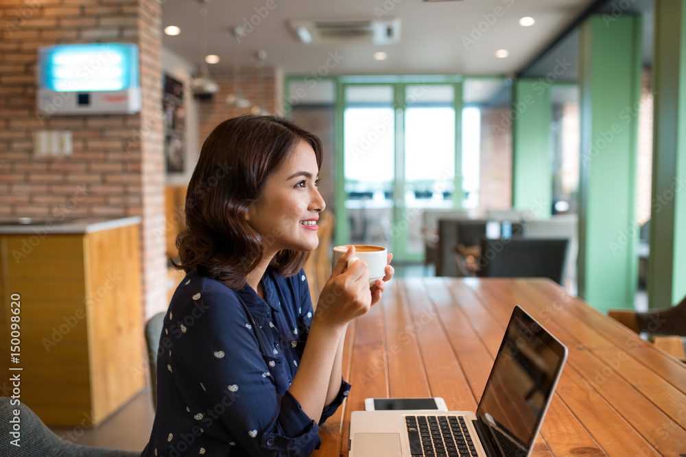
M 686 295 L 686 3 L 655 0 L 648 304 Z

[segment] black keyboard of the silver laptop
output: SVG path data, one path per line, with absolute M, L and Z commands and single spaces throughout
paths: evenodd
M 412 456 L 477 456 L 461 416 L 405 416 Z

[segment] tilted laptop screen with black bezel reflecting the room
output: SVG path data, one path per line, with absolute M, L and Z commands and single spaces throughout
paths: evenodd
M 477 417 L 508 456 L 526 456 L 567 357 L 567 348 L 514 308 Z

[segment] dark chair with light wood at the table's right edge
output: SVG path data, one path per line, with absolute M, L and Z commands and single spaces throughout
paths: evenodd
M 670 308 L 643 312 L 613 309 L 607 314 L 636 333 L 649 333 L 654 345 L 686 362 L 686 297 L 678 305 Z

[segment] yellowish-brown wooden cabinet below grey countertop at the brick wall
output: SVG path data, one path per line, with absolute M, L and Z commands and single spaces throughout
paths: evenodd
M 21 402 L 45 423 L 97 425 L 147 382 L 140 226 L 43 232 L 0 234 L 0 371 L 20 373 Z M 13 294 L 19 363 L 10 360 Z

